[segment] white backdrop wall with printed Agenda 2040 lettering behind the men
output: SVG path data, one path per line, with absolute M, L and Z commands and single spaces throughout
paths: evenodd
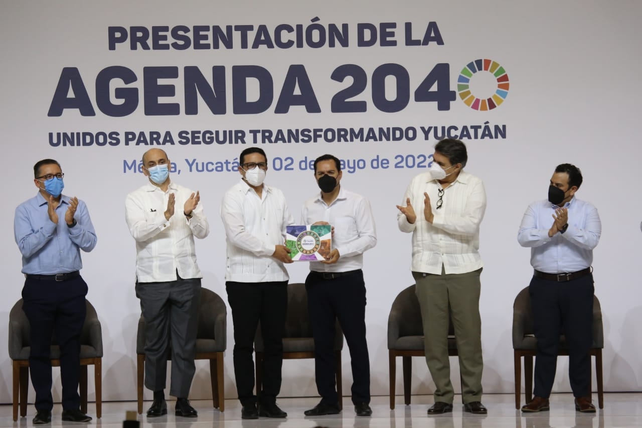
M 126 229 L 123 202 L 126 193 L 141 186 L 145 179 L 142 174 L 126 170 L 124 165 L 140 159 L 152 146 L 137 145 L 136 140 L 126 145 L 125 133 L 137 135 L 142 132 L 146 136 L 157 131 L 169 138 L 167 132 L 174 139 L 175 145 L 155 147 L 164 148 L 169 158 L 177 163 L 180 174 L 173 174 L 173 180 L 200 190 L 211 224 L 210 236 L 197 243 L 198 260 L 205 276 L 203 285 L 227 301 L 225 239 L 218 211 L 223 192 L 239 176 L 235 172 L 189 172 L 188 162 L 193 159 L 198 162 L 234 161 L 243 148 L 253 144 L 250 130 L 256 129 L 277 132 L 364 128 L 367 134 L 370 127 L 401 127 L 415 130 L 416 138 L 412 139 L 411 134 L 412 141 L 358 141 L 357 138 L 351 142 L 320 139 L 311 143 L 261 145 L 270 159 L 266 183 L 283 190 L 295 218 L 300 217 L 304 199 L 317 192 L 311 172 L 298 167 L 300 160 L 314 159 L 329 152 L 354 162 L 363 159 L 367 165 L 352 173 L 346 170 L 342 184 L 367 196 L 375 212 L 378 244 L 365 254 L 366 317 L 372 393 L 386 395 L 386 323 L 390 303 L 400 290 L 413 283 L 409 271 L 410 235 L 397 230 L 395 204 L 401 202 L 410 179 L 424 170 L 413 161 L 421 161 L 433 151 L 436 136 L 431 132 L 424 138 L 421 127 L 437 127 L 437 136 L 442 127 L 457 127 L 451 128 L 451 132 L 467 143 L 469 163 L 466 169 L 482 177 L 488 196 L 480 236 L 485 262 L 480 301 L 484 391 L 513 391 L 512 303 L 517 292 L 528 285 L 531 276 L 530 253 L 517 244 L 517 229 L 528 203 L 546 197 L 553 168 L 565 162 L 582 169 L 584 184 L 577 196 L 593 202 L 602 218 L 602 239 L 594 251 L 594 278 L 596 295 L 602 302 L 605 332 L 605 390 L 639 391 L 642 339 L 636 333 L 636 326 L 642 324 L 642 305 L 637 287 L 637 249 L 641 244 L 639 221 L 642 210 L 637 163 L 642 150 L 635 136 L 639 123 L 636 120 L 638 103 L 642 96 L 637 83 L 642 67 L 639 55 L 642 30 L 638 22 L 641 12 L 642 4 L 634 0 L 529 4 L 501 0 L 435 4 L 381 0 L 329 0 L 314 4 L 286 0 L 269 4 L 247 0 L 180 4 L 168 0 L 153 3 L 4 1 L 0 14 L 3 53 L 0 126 L 5 183 L 4 210 L 0 213 L 0 223 L 4 224 L 0 228 L 4 242 L 0 258 L 4 276 L 0 285 L 4 296 L 0 303 L 0 319 L 5 322 L 8 319 L 10 308 L 20 298 L 24 281 L 20 273 L 20 254 L 13 242 L 13 209 L 36 192 L 32 184 L 33 164 L 39 159 L 53 157 L 60 161 L 65 172 L 65 193 L 87 202 L 98 235 L 96 249 L 83 254 L 83 277 L 89 284 L 87 297 L 96 307 L 103 327 L 103 400 L 134 400 L 139 302 L 134 295 L 134 241 Z M 288 28 L 279 27 L 281 24 L 290 25 L 294 32 L 281 31 Z M 299 24 L 304 34 L 302 47 L 266 48 L 266 34 L 273 36 L 275 31 L 283 36 L 282 40 L 296 42 Z M 310 27 L 315 30 L 310 30 L 311 38 L 306 39 L 306 28 L 311 24 L 317 26 Z M 339 29 L 345 26 L 347 41 L 344 44 L 347 46 L 336 44 L 332 47 L 330 39 L 325 42 L 319 39 L 318 24 L 325 30 L 331 24 Z M 254 27 L 247 32 L 247 49 L 241 46 L 241 29 L 232 29 L 231 48 L 213 49 L 213 31 L 209 30 L 203 31 L 200 42 L 196 41 L 205 49 L 162 49 L 162 45 L 176 41 L 167 31 L 164 34 L 169 35 L 168 40 L 157 39 L 156 44 L 152 44 L 150 39 L 153 49 L 143 49 L 141 44 L 134 44 L 137 49 L 132 49 L 130 39 L 109 49 L 110 26 L 126 30 L 139 26 L 151 33 L 155 26 L 186 26 L 190 29 L 187 35 L 191 37 L 194 26 L 200 25 L 210 29 L 221 26 L 223 30 L 227 25 Z M 259 27 L 262 25 L 265 27 Z M 377 29 L 374 46 L 363 46 L 363 43 L 359 46 L 360 28 L 373 26 Z M 409 27 L 412 29 L 408 31 Z M 267 32 L 262 33 L 262 28 Z M 429 39 L 424 40 L 429 41 L 427 45 L 406 46 L 412 45 L 412 40 L 424 39 L 427 29 Z M 372 31 L 364 34 L 372 40 Z M 163 35 L 162 29 L 159 35 Z M 252 49 L 252 42 L 257 37 L 263 44 Z M 393 40 L 395 46 L 385 46 L 392 45 Z M 310 46 L 317 43 L 320 47 Z M 460 71 L 469 62 L 485 58 L 501 64 L 510 76 L 505 102 L 489 111 L 468 107 L 458 94 L 448 102 L 448 92 L 458 91 Z M 365 111 L 340 112 L 340 107 L 345 107 L 342 103 L 337 103 L 334 109 L 331 107 L 336 94 L 353 84 L 351 77 L 343 81 L 331 78 L 333 71 L 344 64 L 354 64 L 349 67 L 349 74 L 357 76 L 355 85 L 363 84 L 347 98 L 365 102 Z M 399 77 L 379 76 L 377 73 L 382 69 L 377 67 L 382 64 L 397 64 L 384 69 Z M 415 98 L 415 89 L 437 64 L 446 64 L 437 67 L 438 71 L 433 75 L 439 75 L 438 96 L 446 100 L 442 110 L 435 102 L 421 101 L 428 89 L 417 91 L 419 100 Z M 293 67 L 297 65 L 299 67 Z M 122 103 L 117 98 L 121 96 L 118 88 L 135 88 L 139 97 L 135 108 L 121 113 L 121 117 L 107 114 L 104 107 L 108 102 L 105 100 L 100 104 L 103 108 L 99 108 L 96 96 L 97 76 L 107 73 L 100 74 L 105 69 L 114 70 L 108 67 L 115 66 L 131 70 L 136 80 L 126 84 L 119 79 L 112 80 L 108 86 L 111 103 Z M 205 81 L 212 85 L 214 66 L 225 67 L 226 100 L 222 104 L 225 111 L 213 114 L 200 100 L 198 114 L 186 114 L 189 106 L 185 102 L 183 78 L 189 71 L 185 67 L 198 67 Z M 238 73 L 243 67 L 232 69 L 234 66 L 263 67 L 272 77 L 273 101 L 265 111 L 243 110 L 238 85 L 243 80 L 239 80 L 238 74 L 234 75 L 234 70 Z M 68 83 L 64 81 L 59 88 L 58 101 L 63 98 L 71 101 L 58 116 L 48 115 L 65 67 L 78 70 L 94 116 L 83 115 L 74 107 L 74 100 L 80 100 L 82 94 L 78 86 L 68 91 Z M 157 82 L 175 86 L 174 92 L 171 87 L 154 88 L 151 73 L 144 76 L 145 67 L 177 67 L 175 78 L 162 78 Z M 446 71 L 443 67 L 447 67 Z M 292 75 L 286 78 L 288 69 L 291 73 L 299 71 L 299 78 L 292 80 Z M 404 78 L 404 73 L 408 78 Z M 223 88 L 221 78 L 217 79 L 216 94 L 219 96 Z M 100 87 L 104 80 L 98 81 Z M 296 82 L 296 89 L 288 89 L 287 85 L 283 89 L 286 81 Z M 395 90 L 397 83 L 399 88 Z M 496 85 L 491 73 L 480 71 L 471 78 L 470 89 L 477 98 L 487 98 L 494 93 Z M 435 91 L 437 85 L 429 89 Z M 269 97 L 270 92 L 265 82 L 259 87 L 256 79 L 247 80 L 247 102 L 259 100 L 259 96 Z M 286 112 L 275 112 L 282 93 L 286 98 L 288 93 L 295 95 L 289 98 L 293 105 Z M 303 95 L 297 96 L 300 93 Z M 382 93 L 385 99 L 381 98 Z M 406 101 L 404 96 L 408 97 Z M 315 99 L 320 112 L 311 108 Z M 397 102 L 391 102 L 395 99 Z M 302 105 L 295 105 L 301 100 L 308 103 L 307 110 Z M 177 114 L 146 114 L 145 103 L 150 109 L 153 103 L 176 103 Z M 388 107 L 395 111 L 383 111 Z M 483 132 L 485 124 L 489 125 L 494 138 Z M 475 129 L 477 134 L 474 134 Z M 496 129 L 502 130 L 503 134 L 498 134 Z M 178 143 L 181 130 L 241 130 L 245 132 L 247 144 L 182 145 Z M 58 132 L 87 132 L 94 137 L 98 132 L 112 132 L 114 141 L 118 138 L 119 143 L 58 145 Z M 370 160 L 376 156 L 390 159 L 390 168 L 371 168 Z M 414 167 L 394 168 L 395 156 L 402 159 L 401 165 L 405 166 L 408 161 L 407 165 Z M 288 157 L 292 159 L 292 170 L 282 168 L 289 163 Z M 304 263 L 289 267 L 291 281 L 303 281 L 306 268 Z M 0 329 L 0 342 L 6 343 L 6 334 L 6 328 Z M 231 316 L 228 316 L 227 398 L 236 397 L 232 337 Z M 349 394 L 351 372 L 347 349 L 343 361 L 344 393 Z M 456 379 L 457 365 L 455 360 L 451 361 L 454 363 L 453 379 Z M 425 362 L 415 359 L 413 370 L 413 393 L 431 393 L 433 384 Z M 569 391 L 567 370 L 568 359 L 560 359 L 555 391 Z M 397 379 L 401 378 L 401 369 L 399 371 Z M 0 372 L 0 402 L 10 402 L 12 371 L 4 347 L 0 348 Z M 284 362 L 281 395 L 317 395 L 311 373 L 312 361 Z M 56 397 L 60 397 L 57 370 L 55 385 Z M 455 385 L 458 388 L 458 382 Z M 91 391 L 92 386 L 90 400 L 94 398 Z M 401 391 L 401 381 L 397 391 Z M 30 397 L 33 398 L 33 391 Z M 148 392 L 146 397 L 150 397 Z M 191 398 L 209 397 L 209 368 L 205 362 L 197 362 Z

